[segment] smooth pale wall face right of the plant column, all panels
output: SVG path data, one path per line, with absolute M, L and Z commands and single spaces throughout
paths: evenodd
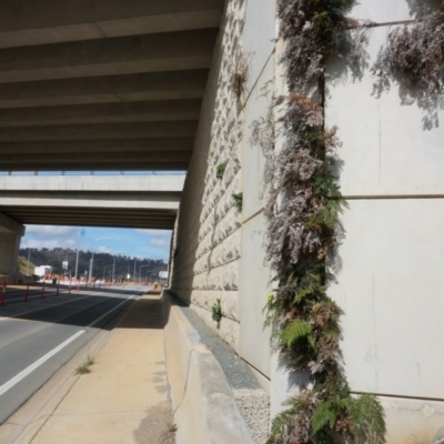
M 411 19 L 406 0 L 363 0 L 357 19 Z M 393 27 L 372 30 L 371 64 Z M 337 284 L 344 309 L 345 369 L 355 392 L 383 395 L 390 444 L 444 437 L 444 114 L 423 128 L 424 111 L 402 105 L 398 84 L 381 98 L 375 79 L 331 87 L 326 123 L 339 127 L 342 223 Z M 441 431 L 440 431 L 441 430 Z

